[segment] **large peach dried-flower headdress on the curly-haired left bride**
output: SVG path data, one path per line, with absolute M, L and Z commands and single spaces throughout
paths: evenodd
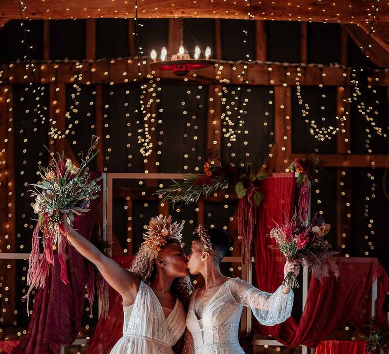
M 172 217 L 157 216 L 152 217 L 147 230 L 143 234 L 144 242 L 140 246 L 142 253 L 148 254 L 151 259 L 155 259 L 158 256 L 158 252 L 161 247 L 164 246 L 169 239 L 174 239 L 177 242 L 181 242 L 182 228 L 184 227 L 184 221 L 181 224 L 172 223 Z

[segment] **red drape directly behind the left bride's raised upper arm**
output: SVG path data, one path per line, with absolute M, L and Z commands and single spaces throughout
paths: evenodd
M 134 256 L 118 256 L 113 259 L 123 268 L 129 269 Z M 123 335 L 123 302 L 120 294 L 109 287 L 109 309 L 107 318 L 100 316 L 86 354 L 106 354 Z

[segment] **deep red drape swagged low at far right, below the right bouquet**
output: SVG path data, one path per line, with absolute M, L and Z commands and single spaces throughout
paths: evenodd
M 299 324 L 293 319 L 265 328 L 289 347 L 305 344 L 314 347 L 345 322 L 363 328 L 365 296 L 369 296 L 374 281 L 378 280 L 378 319 L 384 321 L 382 304 L 388 278 L 375 258 L 339 258 L 340 277 L 330 276 L 322 282 L 313 278 Z M 262 327 L 264 328 L 264 327 Z

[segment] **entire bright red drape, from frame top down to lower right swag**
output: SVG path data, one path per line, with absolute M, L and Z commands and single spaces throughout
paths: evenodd
M 289 178 L 288 178 L 289 175 Z M 294 200 L 294 176 L 276 174 L 263 181 L 264 201 L 258 208 L 258 227 L 255 237 L 255 269 L 257 286 L 274 292 L 282 282 L 285 258 L 277 249 L 269 248 L 274 240 L 268 235 L 274 222 L 282 223 L 289 215 Z M 304 344 L 314 347 L 345 322 L 363 327 L 366 321 L 365 296 L 369 296 L 373 282 L 378 280 L 378 319 L 386 321 L 382 313 L 388 278 L 375 258 L 339 258 L 340 277 L 330 276 L 322 282 L 313 278 L 308 290 L 304 312 L 297 325 L 293 318 L 277 326 L 259 326 L 262 334 L 270 334 L 284 345 Z

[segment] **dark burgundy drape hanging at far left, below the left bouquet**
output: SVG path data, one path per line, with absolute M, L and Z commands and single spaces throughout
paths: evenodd
M 91 210 L 76 219 L 74 229 L 88 240 L 98 216 L 98 200 Z M 87 263 L 74 247 L 68 247 L 69 285 L 60 279 L 60 264 L 56 256 L 45 287 L 37 289 L 27 333 L 13 354 L 59 353 L 60 343 L 72 343 L 81 327 L 87 283 Z

